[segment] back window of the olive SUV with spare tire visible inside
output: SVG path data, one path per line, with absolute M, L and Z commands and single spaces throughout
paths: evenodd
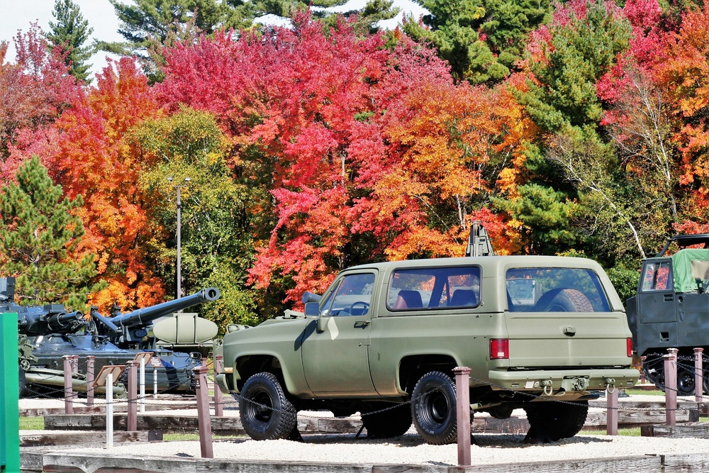
M 610 304 L 591 269 L 513 268 L 506 273 L 510 312 L 608 312 Z

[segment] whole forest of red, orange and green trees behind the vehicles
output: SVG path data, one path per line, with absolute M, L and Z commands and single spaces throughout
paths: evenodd
M 460 256 L 473 220 L 500 254 L 598 260 L 623 298 L 668 236 L 709 232 L 700 2 L 418 0 L 394 30 L 386 0 L 111 3 L 125 43 L 84 44 L 57 0 L 15 60 L 0 45 L 0 276 L 23 304 L 174 298 L 177 184 L 183 292 L 218 287 L 222 328 L 345 267 Z M 88 77 L 91 48 L 123 57 Z

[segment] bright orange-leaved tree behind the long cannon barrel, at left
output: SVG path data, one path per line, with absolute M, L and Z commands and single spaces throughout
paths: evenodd
M 145 75 L 123 58 L 106 67 L 96 87 L 72 101 L 71 108 L 49 128 L 26 130 L 6 170 L 31 154 L 40 155 L 67 196 L 81 194 L 80 216 L 86 233 L 82 245 L 97 255 L 96 279 L 108 283 L 90 302 L 107 311 L 115 301 L 123 309 L 163 300 L 164 285 L 155 274 L 149 249 L 160 228 L 145 215 L 145 196 L 138 174 L 146 162 L 124 136 L 159 106 Z

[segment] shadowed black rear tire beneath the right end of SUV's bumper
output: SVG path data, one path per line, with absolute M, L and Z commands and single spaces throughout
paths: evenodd
M 530 423 L 527 439 L 556 442 L 562 438 L 571 438 L 584 428 L 588 401 L 542 401 L 526 406 L 525 411 Z

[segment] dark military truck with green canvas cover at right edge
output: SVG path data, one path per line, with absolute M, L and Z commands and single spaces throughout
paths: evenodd
M 676 250 L 671 256 L 670 248 Z M 663 390 L 662 355 L 674 347 L 679 350 L 678 394 L 694 394 L 693 349 L 709 351 L 708 289 L 709 234 L 670 238 L 657 255 L 642 262 L 637 293 L 626 303 L 627 317 L 635 350 L 644 357 L 645 376 Z M 703 390 L 709 393 L 706 372 Z

